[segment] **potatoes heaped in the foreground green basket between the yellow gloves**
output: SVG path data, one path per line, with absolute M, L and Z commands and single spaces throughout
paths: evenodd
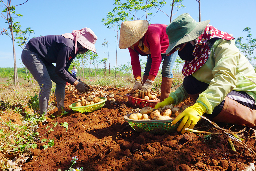
M 182 106 L 182 108 L 173 107 L 173 105 L 165 105 L 163 108 L 158 108 L 153 111 L 153 108 L 146 106 L 137 113 L 132 113 L 129 119 L 151 121 L 151 120 L 169 120 L 174 119 L 182 113 L 189 105 Z

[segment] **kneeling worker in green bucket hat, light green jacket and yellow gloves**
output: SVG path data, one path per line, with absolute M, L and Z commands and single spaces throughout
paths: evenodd
M 170 45 L 166 54 L 178 50 L 185 61 L 183 84 L 155 108 L 179 104 L 190 97 L 195 104 L 173 121 L 182 119 L 177 131 L 193 129 L 200 116 L 212 121 L 254 127 L 256 124 L 256 74 L 234 44 L 232 35 L 196 22 L 188 13 L 171 22 L 166 33 Z M 189 131 L 187 131 L 189 132 Z

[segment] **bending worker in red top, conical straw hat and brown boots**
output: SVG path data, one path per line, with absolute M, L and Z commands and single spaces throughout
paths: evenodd
M 131 56 L 135 78 L 135 85 L 131 93 L 134 93 L 137 89 L 141 90 L 141 97 L 150 93 L 161 61 L 163 61 L 160 102 L 169 96 L 173 81 L 172 69 L 177 58 L 177 53 L 170 56 L 165 55 L 169 46 L 168 36 L 165 32 L 166 26 L 164 24 L 148 25 L 147 20 L 123 22 L 119 41 L 119 48 L 128 48 Z M 148 56 L 143 80 L 141 80 L 139 55 Z

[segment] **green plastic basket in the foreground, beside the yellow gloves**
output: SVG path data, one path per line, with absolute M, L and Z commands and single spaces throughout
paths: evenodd
M 133 112 L 133 113 L 137 113 L 137 112 Z M 150 132 L 152 134 L 165 134 L 165 133 L 177 132 L 177 128 L 180 123 L 179 121 L 178 123 L 173 125 L 172 124 L 173 119 L 151 120 L 151 121 L 129 119 L 129 116 L 133 113 L 129 113 L 125 115 L 124 120 L 127 121 L 129 125 L 137 132 Z

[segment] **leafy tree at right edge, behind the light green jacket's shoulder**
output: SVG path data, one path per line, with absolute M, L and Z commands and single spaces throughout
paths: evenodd
M 256 39 L 252 39 L 250 29 L 250 27 L 246 27 L 243 29 L 243 31 L 247 31 L 247 43 L 243 43 L 243 37 L 238 37 L 237 40 L 235 41 L 235 45 L 241 52 L 243 52 L 244 56 L 250 61 L 252 66 L 255 68 L 255 63 L 253 63 L 253 60 L 256 59 L 254 55 L 256 48 Z

